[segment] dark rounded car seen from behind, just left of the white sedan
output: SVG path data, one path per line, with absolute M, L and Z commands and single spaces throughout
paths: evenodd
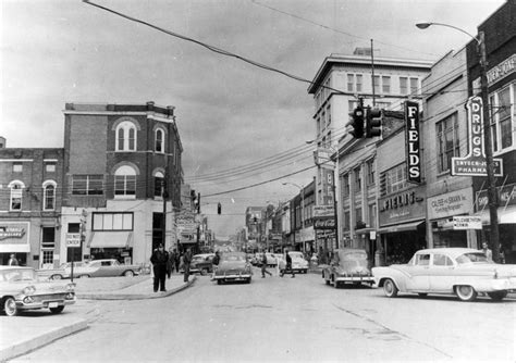
M 327 285 L 339 288 L 341 284 L 372 286 L 374 278 L 367 267 L 367 252 L 361 249 L 343 248 L 335 250 L 334 259 L 322 270 Z

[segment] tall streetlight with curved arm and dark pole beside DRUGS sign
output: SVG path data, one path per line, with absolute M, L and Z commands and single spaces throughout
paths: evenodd
M 499 216 L 497 216 L 497 205 L 496 205 L 496 186 L 494 183 L 494 163 L 493 163 L 493 149 L 491 142 L 491 130 L 489 122 L 489 98 L 488 98 L 488 58 L 486 52 L 486 37 L 483 32 L 479 30 L 478 36 L 474 36 L 468 32 L 460 29 L 456 26 L 443 23 L 418 23 L 416 26 L 420 29 L 426 29 L 431 25 L 439 25 L 450 27 L 452 29 L 458 30 L 468 35 L 477 42 L 477 53 L 480 60 L 480 89 L 481 98 L 483 104 L 483 142 L 486 143 L 486 166 L 488 170 L 488 203 L 489 203 L 489 218 L 490 218 L 490 240 L 491 248 L 493 251 L 493 260 L 499 262 L 500 256 L 500 231 L 499 231 Z

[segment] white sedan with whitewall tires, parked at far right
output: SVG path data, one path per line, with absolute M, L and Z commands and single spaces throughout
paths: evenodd
M 486 292 L 502 300 L 516 289 L 516 265 L 496 264 L 475 249 L 437 248 L 417 251 L 407 264 L 373 267 L 385 296 L 398 292 L 456 295 L 463 301 Z

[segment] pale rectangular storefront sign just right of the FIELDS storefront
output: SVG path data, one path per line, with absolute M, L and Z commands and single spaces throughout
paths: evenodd
M 428 198 L 428 218 L 438 220 L 472 212 L 472 188 L 465 188 Z

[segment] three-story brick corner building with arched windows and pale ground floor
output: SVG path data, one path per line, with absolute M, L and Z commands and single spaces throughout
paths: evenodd
M 148 263 L 158 243 L 177 247 L 183 147 L 173 111 L 66 103 L 61 239 L 84 237 L 61 249 L 62 261 Z

